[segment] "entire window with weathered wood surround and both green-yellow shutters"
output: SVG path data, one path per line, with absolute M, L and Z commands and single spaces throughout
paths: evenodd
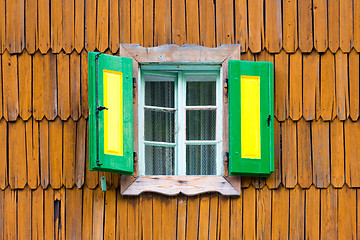
M 240 195 L 240 175 L 269 176 L 272 64 L 239 59 L 239 45 L 89 52 L 90 170 L 122 174 L 123 195 Z

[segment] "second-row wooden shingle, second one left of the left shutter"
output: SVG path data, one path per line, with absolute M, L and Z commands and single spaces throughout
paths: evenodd
M 71 118 L 77 121 L 81 114 L 80 98 L 80 55 L 70 54 L 70 111 Z

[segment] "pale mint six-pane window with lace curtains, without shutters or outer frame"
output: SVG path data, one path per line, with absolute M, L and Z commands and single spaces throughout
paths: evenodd
M 220 66 L 156 68 L 141 70 L 139 174 L 222 175 Z

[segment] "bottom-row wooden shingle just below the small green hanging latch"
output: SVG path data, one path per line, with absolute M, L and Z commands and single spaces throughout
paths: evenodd
M 93 239 L 103 239 L 104 237 L 104 192 L 101 188 L 96 188 L 93 199 Z

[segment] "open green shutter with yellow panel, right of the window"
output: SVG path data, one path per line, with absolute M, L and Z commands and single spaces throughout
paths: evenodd
M 229 60 L 229 172 L 274 171 L 273 64 Z

